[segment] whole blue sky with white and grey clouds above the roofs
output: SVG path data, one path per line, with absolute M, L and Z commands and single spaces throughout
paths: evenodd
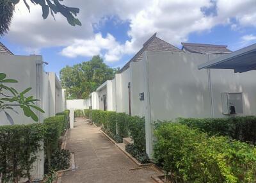
M 180 42 L 228 45 L 232 51 L 256 43 L 255 0 L 65 0 L 80 8 L 82 26 L 61 15 L 42 19 L 21 1 L 8 35 L 0 38 L 14 54 L 42 54 L 46 71 L 88 61 L 100 54 L 122 67 L 154 33 L 177 47 Z

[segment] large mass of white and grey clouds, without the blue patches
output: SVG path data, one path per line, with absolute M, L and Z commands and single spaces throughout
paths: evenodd
M 21 1 L 7 37 L 29 52 L 61 46 L 63 56 L 101 54 L 106 61 L 118 61 L 124 54 L 138 51 L 155 32 L 170 44 L 180 45 L 188 40 L 190 33 L 209 31 L 218 24 L 229 24 L 233 30 L 256 26 L 255 0 L 74 0 L 64 3 L 80 8 L 79 19 L 83 26 L 72 27 L 61 15 L 56 15 L 56 21 L 51 15 L 42 20 L 40 6 L 31 5 L 29 13 Z M 205 15 L 205 8 L 214 7 L 216 15 Z M 120 44 L 111 34 L 103 37 L 93 33 L 92 25 L 100 26 L 106 16 L 129 21 L 127 34 L 131 39 Z

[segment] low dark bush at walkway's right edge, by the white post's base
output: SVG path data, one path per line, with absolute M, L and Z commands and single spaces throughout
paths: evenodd
M 142 151 L 134 144 L 125 145 L 125 150 L 129 154 L 131 154 L 135 159 L 137 159 L 140 163 L 150 163 L 150 159 L 145 151 Z

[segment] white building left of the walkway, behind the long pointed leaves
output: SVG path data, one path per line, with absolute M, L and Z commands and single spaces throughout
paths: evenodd
M 8 83 L 8 86 L 12 86 L 17 91 L 22 92 L 26 88 L 32 88 L 26 93 L 26 96 L 39 99 L 36 105 L 45 111 L 45 113 L 35 111 L 39 123 L 44 122 L 44 118 L 55 116 L 55 113 L 65 109 L 65 95 L 63 95 L 60 81 L 54 72 L 44 72 L 42 56 L 13 55 L 0 43 L 0 72 L 5 73 L 8 79 L 19 81 L 19 83 Z M 8 111 L 15 124 L 35 123 L 31 118 L 23 115 L 23 111 L 19 107 L 16 108 L 16 111 L 19 114 Z M 0 113 L 0 125 L 10 125 L 4 113 Z M 42 179 L 44 177 L 44 151 L 40 151 L 38 156 L 32 176 L 36 179 Z

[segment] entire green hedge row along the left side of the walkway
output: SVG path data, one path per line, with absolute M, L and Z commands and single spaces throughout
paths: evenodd
M 63 115 L 61 115 L 63 114 Z M 44 141 L 47 170 L 51 169 L 51 156 L 59 150 L 60 136 L 67 129 L 69 111 L 46 118 L 44 123 L 0 126 L 1 182 L 18 182 L 27 177 L 36 161 L 37 152 Z

